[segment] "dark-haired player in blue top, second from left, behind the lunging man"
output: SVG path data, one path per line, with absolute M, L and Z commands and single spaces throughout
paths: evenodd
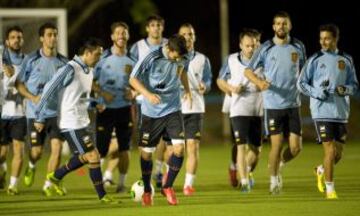
M 58 30 L 55 25 L 43 24 L 39 28 L 39 37 L 42 47 L 24 59 L 16 79 L 16 88 L 26 99 L 27 134 L 31 145 L 29 164 L 24 176 L 24 184 L 28 187 L 34 183 L 35 165 L 42 155 L 45 137 L 49 137 L 51 145 L 48 172 L 54 171 L 60 164 L 63 139 L 57 126 L 57 112 L 53 107 L 46 110 L 45 129 L 38 132 L 34 128 L 35 109 L 45 84 L 55 75 L 57 69 L 68 61 L 57 52 Z M 50 181 L 45 181 L 43 192 L 46 196 L 52 195 Z

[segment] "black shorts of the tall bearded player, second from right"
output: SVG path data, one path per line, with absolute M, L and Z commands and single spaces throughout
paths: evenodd
M 299 108 L 265 109 L 265 129 L 267 135 L 290 133 L 301 136 L 301 117 Z

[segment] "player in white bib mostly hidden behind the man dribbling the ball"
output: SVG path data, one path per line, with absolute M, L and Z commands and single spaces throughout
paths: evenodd
M 143 59 L 150 51 L 158 49 L 160 46 L 164 46 L 167 42 L 167 39 L 163 37 L 165 21 L 161 16 L 152 15 L 149 16 L 146 20 L 146 32 L 147 38 L 141 39 L 136 42 L 130 49 L 130 56 L 136 61 Z M 138 125 L 140 120 L 140 104 L 143 100 L 143 96 L 139 95 L 136 97 L 138 102 Z M 163 139 L 160 140 L 159 145 L 156 149 L 156 159 L 155 159 L 155 172 L 153 179 L 156 182 L 156 187 L 161 188 L 162 186 L 162 167 L 163 165 L 167 166 L 164 163 L 164 155 L 166 151 L 166 144 Z M 168 167 L 167 167 L 168 169 Z

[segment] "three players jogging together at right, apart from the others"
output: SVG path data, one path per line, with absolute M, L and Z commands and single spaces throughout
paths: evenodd
M 233 133 L 230 180 L 242 192 L 254 185 L 252 172 L 261 150 L 261 116 L 270 137 L 270 194 L 279 194 L 281 169 L 301 151 L 300 92 L 310 97 L 317 141 L 324 147 L 323 164 L 315 168 L 317 187 L 328 199 L 336 199 L 333 170 L 341 159 L 346 140 L 349 96 L 358 89 L 352 58 L 339 50 L 339 29 L 320 26 L 321 50 L 306 60 L 301 41 L 290 37 L 291 20 L 286 12 L 273 19 L 274 37 L 260 47 L 259 33 L 240 34 L 240 52 L 231 54 L 217 80 L 226 94 L 223 112 L 229 113 Z M 262 92 L 262 94 L 259 94 Z M 264 114 L 263 114 L 264 112 Z M 282 143 L 288 139 L 288 147 Z M 248 149 L 248 150 L 247 150 Z

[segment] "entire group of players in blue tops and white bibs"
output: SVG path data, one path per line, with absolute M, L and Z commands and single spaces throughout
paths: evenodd
M 185 23 L 177 34 L 166 39 L 162 36 L 164 24 L 163 18 L 150 16 L 147 38 L 128 51 L 129 27 L 115 22 L 111 25 L 113 44 L 109 49 L 103 51 L 99 40 L 90 38 L 80 44 L 72 60 L 57 52 L 57 28 L 53 24 L 40 27 L 41 48 L 29 55 L 21 49 L 21 28 L 10 27 L 1 61 L 0 187 L 6 187 L 6 158 L 11 145 L 13 158 L 6 190 L 9 195 L 19 193 L 25 141 L 30 152 L 24 184 L 33 184 L 47 137 L 50 158 L 43 193 L 65 195 L 63 178 L 87 164 L 99 200 L 113 203 L 104 183 L 113 183 L 112 172 L 118 167 L 117 191 L 124 191 L 135 127 L 144 182 L 142 204 L 153 205 L 151 178 L 170 205 L 178 204 L 173 183 L 185 152 L 183 193 L 192 195 L 204 94 L 210 90 L 212 72 L 209 59 L 195 51 L 193 26 Z M 351 57 L 337 48 L 337 26 L 320 27 L 321 50 L 308 60 L 302 42 L 290 37 L 291 27 L 289 15 L 277 13 L 273 19 L 275 35 L 263 44 L 258 31 L 244 29 L 239 36 L 239 52 L 229 55 L 220 70 L 217 84 L 226 94 L 223 111 L 229 113 L 234 139 L 232 185 L 246 193 L 254 186 L 252 172 L 259 160 L 265 128 L 271 141 L 270 193 L 280 193 L 281 169 L 302 148 L 302 92 L 310 97 L 318 142 L 325 153 L 323 164 L 316 167 L 318 189 L 326 192 L 326 198 L 335 199 L 333 170 L 341 159 L 346 138 L 349 96 L 358 88 L 355 68 Z M 91 110 L 96 113 L 95 132 L 91 131 Z M 283 149 L 285 139 L 289 145 Z M 60 166 L 64 140 L 73 156 Z M 103 176 L 101 161 L 107 156 L 109 163 Z

